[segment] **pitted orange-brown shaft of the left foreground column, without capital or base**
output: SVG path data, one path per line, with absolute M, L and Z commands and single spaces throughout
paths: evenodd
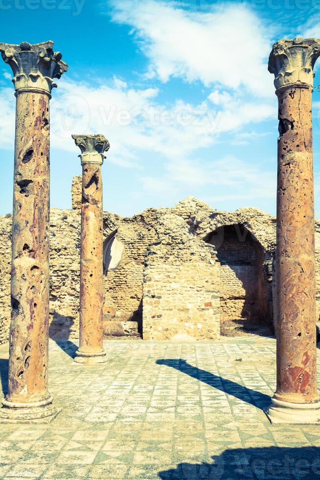
M 48 393 L 49 97 L 17 94 L 12 222 L 9 391 L 13 402 Z

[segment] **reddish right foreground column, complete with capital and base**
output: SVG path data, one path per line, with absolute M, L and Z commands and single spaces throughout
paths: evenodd
M 274 44 L 269 59 L 279 103 L 273 423 L 320 420 L 311 112 L 319 56 L 320 40 L 297 38 Z

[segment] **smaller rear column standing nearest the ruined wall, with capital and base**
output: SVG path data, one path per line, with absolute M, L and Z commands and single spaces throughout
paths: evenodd
M 103 209 L 101 165 L 109 142 L 103 135 L 72 135 L 82 165 L 80 344 L 74 359 L 106 362 L 103 348 Z

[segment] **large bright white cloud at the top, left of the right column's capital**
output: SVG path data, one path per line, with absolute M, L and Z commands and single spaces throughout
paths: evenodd
M 166 82 L 171 76 L 204 85 L 243 87 L 258 96 L 274 94 L 267 70 L 270 33 L 249 8 L 238 2 L 212 6 L 211 17 L 196 18 L 181 2 L 110 0 L 113 20 L 133 27 L 141 50 L 150 60 L 149 77 Z

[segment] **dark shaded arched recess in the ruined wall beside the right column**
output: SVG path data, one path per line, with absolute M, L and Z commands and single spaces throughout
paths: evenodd
M 271 334 L 271 284 L 261 243 L 243 223 L 217 227 L 204 238 L 220 263 L 221 334 Z

